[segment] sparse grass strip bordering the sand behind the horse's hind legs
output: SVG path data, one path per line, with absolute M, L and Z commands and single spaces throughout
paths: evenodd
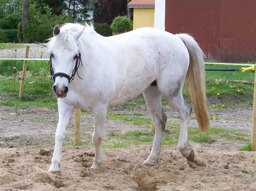
M 174 146 L 178 144 L 180 134 L 180 125 L 167 125 L 162 140 L 162 145 Z M 232 130 L 224 128 L 211 128 L 208 133 L 200 133 L 197 128 L 188 128 L 188 140 L 197 143 L 215 142 L 219 139 L 225 140 L 243 140 L 249 141 L 249 131 Z M 150 131 L 111 131 L 104 136 L 103 148 L 127 148 L 133 145 L 152 144 L 154 134 Z

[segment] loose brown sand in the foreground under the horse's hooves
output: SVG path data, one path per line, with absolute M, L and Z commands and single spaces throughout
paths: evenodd
M 47 172 L 53 147 L 40 149 L 1 149 L 1 191 L 253 191 L 255 153 L 221 151 L 193 144 L 206 167 L 191 169 L 175 148 L 162 147 L 158 166 L 141 165 L 151 146 L 103 149 L 104 163 L 92 170 L 94 149 L 88 146 L 64 147 L 62 174 Z M 49 155 L 49 156 L 48 156 Z

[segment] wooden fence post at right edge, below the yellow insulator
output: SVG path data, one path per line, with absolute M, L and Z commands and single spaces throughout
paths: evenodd
M 254 77 L 252 129 L 251 129 L 251 150 L 256 151 L 256 72 Z

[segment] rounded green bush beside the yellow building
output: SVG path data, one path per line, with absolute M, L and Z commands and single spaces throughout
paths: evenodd
M 113 32 L 121 33 L 132 30 L 132 21 L 125 16 L 117 16 L 110 25 Z

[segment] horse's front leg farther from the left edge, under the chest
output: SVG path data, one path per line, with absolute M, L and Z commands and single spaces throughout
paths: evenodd
M 94 107 L 92 113 L 94 114 L 94 132 L 92 134 L 92 140 L 95 145 L 95 157 L 91 168 L 96 169 L 103 162 L 101 143 L 104 134 L 104 122 L 107 115 L 107 105 L 102 104 Z

